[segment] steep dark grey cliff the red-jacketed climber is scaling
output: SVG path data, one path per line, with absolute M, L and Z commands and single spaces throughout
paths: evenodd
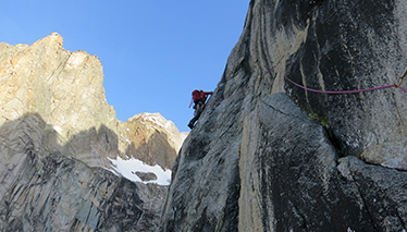
M 160 231 L 407 230 L 407 93 L 309 90 L 398 84 L 406 15 L 400 0 L 251 0 Z

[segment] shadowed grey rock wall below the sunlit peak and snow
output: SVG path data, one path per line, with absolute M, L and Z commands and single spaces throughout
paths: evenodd
M 156 230 L 166 186 L 67 158 L 37 113 L 5 122 L 0 134 L 1 231 Z

